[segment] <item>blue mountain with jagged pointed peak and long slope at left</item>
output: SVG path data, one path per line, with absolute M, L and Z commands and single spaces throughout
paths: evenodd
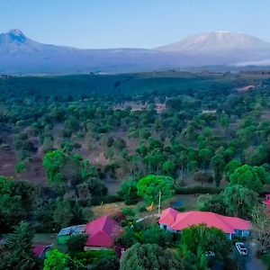
M 76 49 L 42 44 L 20 30 L 0 34 L 1 73 L 123 72 L 139 70 L 148 56 L 155 54 L 148 49 Z

